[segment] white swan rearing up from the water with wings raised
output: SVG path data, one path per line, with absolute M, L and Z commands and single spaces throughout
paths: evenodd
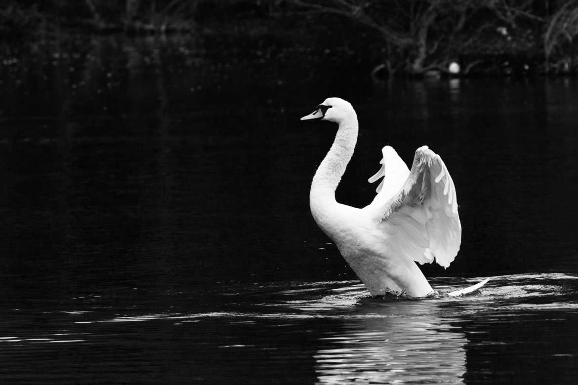
M 339 125 L 335 141 L 313 177 L 309 204 L 321 230 L 373 296 L 405 291 L 424 297 L 433 291 L 416 265 L 450 265 L 460 249 L 461 225 L 454 183 L 442 159 L 426 146 L 416 151 L 412 170 L 391 147 L 382 149 L 384 177 L 372 203 L 354 208 L 335 200 L 335 190 L 357 142 L 357 115 L 343 99 L 328 98 L 302 119 Z

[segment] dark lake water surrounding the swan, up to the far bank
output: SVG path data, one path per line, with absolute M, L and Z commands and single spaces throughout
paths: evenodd
M 578 382 L 578 81 L 372 85 L 354 53 L 236 43 L 2 48 L 0 382 Z M 309 213 L 328 96 L 360 118 L 338 200 L 429 145 L 463 236 L 424 274 L 481 293 L 369 297 Z

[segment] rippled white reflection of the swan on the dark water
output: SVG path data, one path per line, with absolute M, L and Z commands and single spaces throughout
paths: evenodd
M 461 383 L 465 344 L 458 327 L 435 315 L 435 302 L 358 306 L 369 317 L 350 320 L 323 338 L 320 383 Z

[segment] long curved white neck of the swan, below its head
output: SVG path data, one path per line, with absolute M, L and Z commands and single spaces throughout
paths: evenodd
M 317 168 L 309 193 L 309 203 L 314 216 L 335 204 L 335 190 L 351 160 L 357 143 L 357 116 L 352 113 L 339 124 L 339 129 L 331 149 Z M 317 220 L 317 218 L 316 218 Z

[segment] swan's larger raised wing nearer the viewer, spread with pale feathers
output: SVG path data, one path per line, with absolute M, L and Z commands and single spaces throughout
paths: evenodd
M 387 167 L 384 171 L 387 186 Z M 435 256 L 440 266 L 450 266 L 460 249 L 462 229 L 454 182 L 442 158 L 427 146 L 418 148 L 397 193 L 386 197 L 381 192 L 383 188 L 368 208 L 379 219 L 388 251 L 419 263 L 431 263 Z

